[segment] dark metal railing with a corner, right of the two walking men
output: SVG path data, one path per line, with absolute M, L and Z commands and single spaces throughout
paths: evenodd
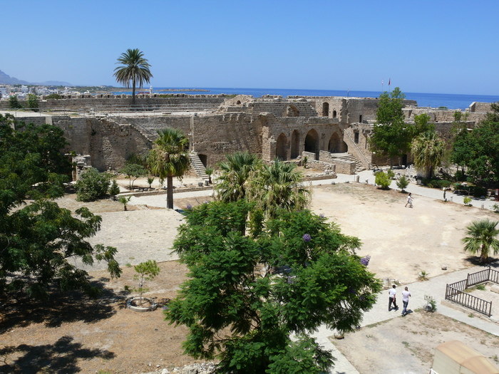
M 470 295 L 465 292 L 470 286 L 475 286 L 483 282 L 492 281 L 499 284 L 499 271 L 488 269 L 468 274 L 466 279 L 446 286 L 446 300 L 458 303 L 466 308 L 470 308 L 478 313 L 490 317 L 492 315 L 492 301 L 486 301 L 482 298 Z

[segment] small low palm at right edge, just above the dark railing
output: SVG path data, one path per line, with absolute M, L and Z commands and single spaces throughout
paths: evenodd
M 490 250 L 493 251 L 493 254 L 498 254 L 499 240 L 496 239 L 499 234 L 499 229 L 496 229 L 498 223 L 489 219 L 471 222 L 466 227 L 467 236 L 461 239 L 464 243 L 464 250 L 470 254 L 480 253 L 480 262 L 488 261 Z

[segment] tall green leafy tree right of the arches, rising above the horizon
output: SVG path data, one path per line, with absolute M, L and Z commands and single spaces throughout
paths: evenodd
M 411 146 L 413 128 L 404 123 L 403 99 L 406 97 L 396 87 L 391 95 L 387 92 L 379 96 L 378 109 L 376 110 L 376 123 L 369 139 L 373 152 L 390 158 L 401 157 L 408 152 Z

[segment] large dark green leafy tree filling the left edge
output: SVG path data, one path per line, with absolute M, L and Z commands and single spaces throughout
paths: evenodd
M 111 276 L 120 275 L 116 249 L 87 241 L 100 229 L 101 217 L 86 208 L 73 214 L 52 201 L 63 196 L 71 172 L 61 153 L 65 146 L 60 128 L 0 115 L 0 294 L 24 290 L 42 297 L 51 287 L 96 294 L 75 259 L 107 261 Z

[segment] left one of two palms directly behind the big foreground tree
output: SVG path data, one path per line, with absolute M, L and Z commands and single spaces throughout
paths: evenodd
M 237 202 L 239 199 L 244 199 L 249 177 L 260 165 L 262 160 L 248 152 L 225 155 L 225 161 L 218 165 L 221 175 L 215 186 L 216 198 L 222 202 Z

